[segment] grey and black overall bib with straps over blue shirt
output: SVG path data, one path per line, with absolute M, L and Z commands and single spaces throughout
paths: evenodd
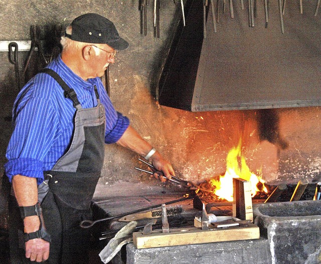
M 44 173 L 46 180 L 38 187 L 38 200 L 41 203 L 50 189 L 68 206 L 88 209 L 104 161 L 105 108 L 100 103 L 96 86 L 98 105 L 82 108 L 74 90 L 56 72 L 50 69 L 42 72 L 50 74 L 61 85 L 65 96 L 73 101 L 76 114 L 70 147 L 54 167 Z

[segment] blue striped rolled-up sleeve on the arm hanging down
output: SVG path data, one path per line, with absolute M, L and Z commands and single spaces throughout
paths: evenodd
M 47 155 L 56 129 L 56 115 L 51 104 L 43 98 L 30 98 L 16 119 L 16 126 L 8 145 L 6 175 L 37 178 L 43 182 L 44 157 Z

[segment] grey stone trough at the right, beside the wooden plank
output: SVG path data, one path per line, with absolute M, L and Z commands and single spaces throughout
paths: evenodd
M 272 263 L 321 263 L 321 201 L 258 204 L 253 212 Z

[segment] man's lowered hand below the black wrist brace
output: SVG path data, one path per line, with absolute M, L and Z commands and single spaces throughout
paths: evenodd
M 41 238 L 30 239 L 26 242 L 26 257 L 31 261 L 42 262 L 49 257 L 50 243 Z

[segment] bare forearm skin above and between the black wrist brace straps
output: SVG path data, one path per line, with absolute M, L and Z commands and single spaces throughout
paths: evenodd
M 37 179 L 16 175 L 12 179 L 12 185 L 19 206 L 31 206 L 38 202 Z M 40 227 L 38 216 L 28 216 L 24 219 L 25 233 L 35 232 Z

